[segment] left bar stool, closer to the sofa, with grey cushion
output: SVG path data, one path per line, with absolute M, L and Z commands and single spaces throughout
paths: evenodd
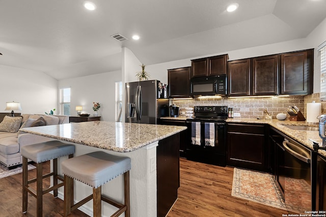
M 64 185 L 64 179 L 58 175 L 58 158 L 63 156 L 73 157 L 75 146 L 60 141 L 41 142 L 21 147 L 22 156 L 22 212 L 27 211 L 28 193 L 36 197 L 37 216 L 42 216 L 43 194 L 53 191 L 53 196 L 58 197 L 58 188 Z M 36 178 L 28 180 L 28 159 L 36 163 Z M 43 175 L 43 162 L 53 159 L 53 172 Z M 53 176 L 53 186 L 43 190 L 43 179 Z M 58 180 L 63 182 L 58 184 Z M 36 181 L 36 191 L 29 186 Z M 69 188 L 73 188 L 70 185 Z M 66 188 L 65 188 L 66 189 Z

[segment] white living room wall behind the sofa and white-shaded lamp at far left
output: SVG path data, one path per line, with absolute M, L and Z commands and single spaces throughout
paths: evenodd
M 20 113 L 44 114 L 58 103 L 58 81 L 33 70 L 0 65 L 0 112 L 6 102 L 20 102 Z

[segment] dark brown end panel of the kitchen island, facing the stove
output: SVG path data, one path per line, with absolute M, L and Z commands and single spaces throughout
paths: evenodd
M 158 141 L 156 147 L 157 216 L 166 216 L 180 187 L 179 133 Z

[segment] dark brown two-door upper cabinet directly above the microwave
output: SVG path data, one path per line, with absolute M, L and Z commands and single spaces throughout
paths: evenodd
M 228 54 L 192 59 L 191 78 L 211 75 L 226 75 L 228 59 Z

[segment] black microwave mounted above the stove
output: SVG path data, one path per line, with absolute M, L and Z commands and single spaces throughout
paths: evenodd
M 226 75 L 194 77 L 190 79 L 191 96 L 225 96 Z

